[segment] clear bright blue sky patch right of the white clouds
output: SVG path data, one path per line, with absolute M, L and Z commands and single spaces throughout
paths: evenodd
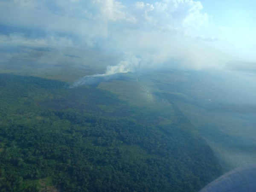
M 208 15 L 212 15 L 212 23 L 218 26 L 226 26 L 232 30 L 229 35 L 236 43 L 236 39 L 242 38 L 245 43 L 255 45 L 256 38 L 256 1 L 252 0 L 223 0 L 209 1 L 202 0 L 204 10 Z M 228 38 L 225 34 L 223 38 Z M 241 37 L 244 36 L 244 37 Z

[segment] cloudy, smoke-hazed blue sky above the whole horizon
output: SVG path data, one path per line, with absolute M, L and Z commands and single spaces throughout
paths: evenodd
M 106 74 L 167 65 L 256 70 L 255 6 L 252 0 L 0 0 L 0 44 L 124 55 Z

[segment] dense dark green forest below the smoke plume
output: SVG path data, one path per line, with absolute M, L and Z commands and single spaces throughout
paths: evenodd
M 172 108 L 161 114 L 96 87 L 0 74 L 0 191 L 198 191 L 221 168 Z

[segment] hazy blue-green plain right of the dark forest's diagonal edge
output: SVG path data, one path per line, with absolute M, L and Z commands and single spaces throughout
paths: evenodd
M 149 80 L 154 96 L 175 104 L 198 129 L 224 172 L 255 163 L 255 84 L 209 72 L 151 73 Z

